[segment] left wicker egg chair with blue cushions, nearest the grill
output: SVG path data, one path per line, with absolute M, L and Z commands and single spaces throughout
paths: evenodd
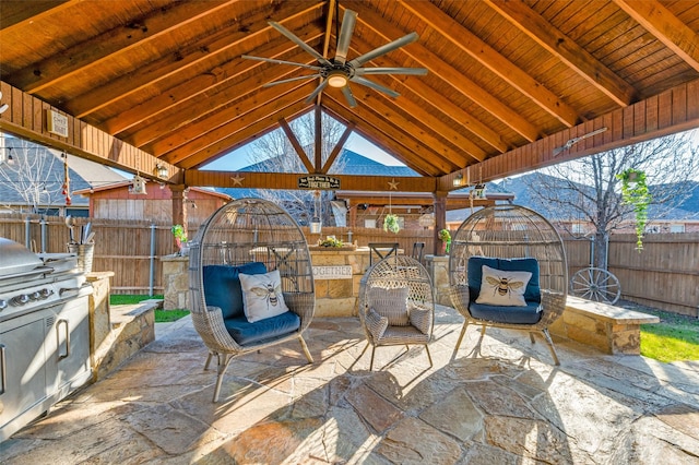
M 199 228 L 189 253 L 192 321 L 209 348 L 204 369 L 212 357 L 217 359 L 214 402 L 230 360 L 238 355 L 298 339 L 308 361 L 313 361 L 303 336 L 316 310 L 310 253 L 288 213 L 261 199 L 235 200 Z M 270 281 L 246 293 L 249 275 L 269 274 L 273 279 L 274 271 L 279 271 L 275 284 Z M 289 311 L 250 322 L 252 291 L 261 293 L 257 296 L 261 303 L 256 303 L 262 311 L 280 303 Z

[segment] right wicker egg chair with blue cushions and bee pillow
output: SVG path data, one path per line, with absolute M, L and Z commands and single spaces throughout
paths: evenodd
M 533 333 L 541 333 L 559 365 L 548 326 L 566 308 L 568 266 L 560 236 L 546 218 L 519 205 L 472 214 L 452 238 L 449 285 L 465 319 L 454 355 L 474 323 L 483 333 L 486 326 L 528 331 L 532 343 Z

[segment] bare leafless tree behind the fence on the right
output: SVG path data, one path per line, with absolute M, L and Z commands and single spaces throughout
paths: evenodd
M 633 208 L 623 202 L 616 175 L 628 168 L 645 174 L 652 195 L 650 225 L 691 195 L 686 186 L 699 174 L 698 139 L 695 130 L 544 168 L 530 187 L 533 206 L 573 236 L 592 235 L 593 266 L 606 269 L 608 235 L 633 222 Z M 574 230 L 576 224 L 590 224 L 592 230 Z

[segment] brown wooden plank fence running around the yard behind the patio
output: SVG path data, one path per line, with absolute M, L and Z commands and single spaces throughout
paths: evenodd
M 76 229 L 90 219 L 75 218 Z M 93 219 L 95 255 L 93 271 L 112 271 L 115 294 L 163 294 L 159 258 L 177 248 L 171 225 L 152 222 Z M 189 225 L 193 238 L 199 225 Z M 377 228 L 323 227 L 321 235 L 301 228 L 310 243 L 335 236 L 343 241 L 399 242 L 411 253 L 414 242 L 433 251 L 431 230 L 401 230 L 398 235 Z M 455 231 L 452 231 L 452 234 Z M 0 215 L 0 237 L 26 243 L 37 251 L 66 252 L 69 233 L 63 218 L 37 215 Z M 566 239 L 569 274 L 590 265 L 590 241 Z M 699 317 L 699 234 L 647 235 L 638 252 L 635 235 L 615 235 L 609 241 L 609 272 L 621 285 L 621 297 L 677 313 Z

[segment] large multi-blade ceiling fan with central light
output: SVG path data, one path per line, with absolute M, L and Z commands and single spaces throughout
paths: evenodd
M 322 78 L 322 82 L 316 87 L 316 90 L 306 98 L 306 103 L 311 103 L 313 98 L 316 98 L 327 86 L 341 88 L 345 98 L 347 99 L 347 104 L 351 107 L 357 106 L 357 100 L 352 95 L 352 90 L 350 88 L 350 83 L 362 84 L 367 87 L 371 87 L 376 91 L 382 92 L 391 97 L 398 97 L 400 94 L 391 88 L 388 88 L 381 84 L 378 84 L 374 81 L 370 81 L 365 78 L 365 75 L 371 74 L 413 74 L 413 75 L 425 75 L 427 74 L 427 70 L 425 68 L 364 68 L 364 64 L 369 61 L 381 57 L 390 51 L 393 51 L 398 48 L 401 48 L 407 44 L 411 44 L 417 40 L 418 36 L 416 33 L 411 33 L 404 37 L 395 39 L 389 44 L 382 45 L 367 53 L 362 55 L 353 60 L 347 60 L 347 51 L 350 50 L 350 41 L 352 39 L 352 34 L 354 32 L 354 26 L 357 22 L 357 13 L 352 10 L 345 10 L 345 13 L 342 19 L 342 28 L 340 29 L 340 34 L 337 36 L 337 46 L 335 50 L 335 57 L 332 59 L 327 59 L 318 51 L 312 49 L 308 44 L 298 38 L 294 33 L 288 31 L 286 27 L 282 26 L 280 23 L 274 21 L 270 21 L 270 26 L 274 27 L 276 31 L 282 33 L 286 38 L 292 40 L 294 44 L 298 45 L 300 48 L 310 53 L 317 61 L 318 65 L 306 64 L 306 63 L 297 63 L 295 61 L 285 61 L 277 60 L 274 58 L 263 58 L 263 57 L 252 57 L 249 55 L 244 55 L 242 58 L 248 60 L 258 60 L 258 61 L 268 61 L 270 63 L 277 64 L 291 64 L 294 67 L 300 67 L 305 69 L 309 69 L 316 71 L 313 74 L 305 74 L 301 76 L 289 78 L 285 80 L 270 82 L 264 84 L 265 87 L 283 84 L 292 81 L 299 81 L 306 79 L 315 79 Z

